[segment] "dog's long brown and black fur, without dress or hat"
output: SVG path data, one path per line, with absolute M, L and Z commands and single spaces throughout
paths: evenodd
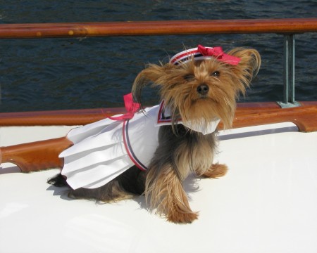
M 197 219 L 198 213 L 190 209 L 182 182 L 191 171 L 215 179 L 224 176 L 228 168 L 225 164 L 213 164 L 215 133 L 203 135 L 177 122 L 182 119 L 204 125 L 218 118 L 225 128 L 230 128 L 236 99 L 240 93 L 244 95 L 259 71 L 261 58 L 258 51 L 249 48 L 235 48 L 228 54 L 241 58 L 240 63 L 229 65 L 211 58 L 181 65 L 150 64 L 140 72 L 132 86 L 135 100 L 141 102 L 144 86 L 158 87 L 173 123 L 161 126 L 159 147 L 147 172 L 132 167 L 106 186 L 70 190 L 70 196 L 111 202 L 144 193 L 149 209 L 166 216 L 168 221 L 191 223 Z M 54 182 L 55 179 L 51 181 Z

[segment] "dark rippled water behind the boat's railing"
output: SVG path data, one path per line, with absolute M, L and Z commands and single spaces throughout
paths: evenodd
M 314 18 L 316 0 L 0 0 L 0 23 L 244 18 Z M 317 33 L 296 36 L 296 99 L 317 100 Z M 240 101 L 282 100 L 278 34 L 0 40 L 0 112 L 122 106 L 146 63 L 184 46 L 256 48 L 262 67 Z M 146 102 L 157 103 L 147 91 Z

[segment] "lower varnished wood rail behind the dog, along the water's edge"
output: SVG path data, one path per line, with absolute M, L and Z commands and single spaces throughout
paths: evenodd
M 301 102 L 297 108 L 280 108 L 276 103 L 240 103 L 233 128 L 292 122 L 299 131 L 317 131 L 317 101 Z M 125 108 L 58 110 L 44 112 L 0 113 L 0 126 L 84 125 L 125 113 Z M 223 125 L 220 123 L 220 129 Z

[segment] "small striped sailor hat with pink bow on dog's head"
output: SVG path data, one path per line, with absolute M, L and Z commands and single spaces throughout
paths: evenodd
M 197 48 L 191 48 L 185 51 L 182 51 L 178 54 L 175 54 L 172 58 L 170 58 L 170 64 L 179 65 L 182 63 L 187 63 L 189 60 L 206 60 L 216 58 L 224 63 L 228 63 L 230 65 L 237 65 L 240 63 L 240 58 L 235 56 L 230 56 L 226 53 L 223 53 L 223 48 L 220 46 L 216 47 L 204 47 L 198 45 Z

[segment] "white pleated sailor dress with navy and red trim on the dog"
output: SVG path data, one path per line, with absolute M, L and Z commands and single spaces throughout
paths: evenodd
M 159 145 L 160 126 L 171 124 L 170 117 L 164 115 L 163 103 L 139 110 L 130 119 L 120 119 L 120 116 L 80 126 L 68 133 L 73 145 L 59 157 L 64 159 L 61 174 L 74 190 L 104 186 L 134 165 L 146 170 Z M 211 122 L 208 129 L 194 130 L 210 134 L 218 122 L 218 119 Z M 194 128 L 188 122 L 184 125 Z

